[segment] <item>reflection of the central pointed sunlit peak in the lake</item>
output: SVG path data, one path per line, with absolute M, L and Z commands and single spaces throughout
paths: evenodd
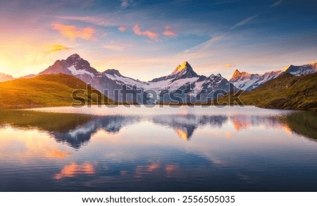
M 158 115 L 152 117 L 151 120 L 154 124 L 172 127 L 180 138 L 189 140 L 197 127 L 206 124 L 211 127 L 221 127 L 228 117 L 225 115 Z

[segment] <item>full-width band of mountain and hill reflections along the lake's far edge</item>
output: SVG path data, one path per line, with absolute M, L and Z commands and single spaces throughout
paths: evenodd
M 123 127 L 139 122 L 169 127 L 181 139 L 189 141 L 194 131 L 201 127 L 221 128 L 223 124 L 233 124 L 237 131 L 256 125 L 280 127 L 286 124 L 297 134 L 316 141 L 316 113 L 294 112 L 283 117 L 262 117 L 258 115 L 110 115 L 92 116 L 79 114 L 58 114 L 31 111 L 1 110 L 0 127 L 10 125 L 19 129 L 39 129 L 47 131 L 57 142 L 67 143 L 75 149 L 84 146 L 97 131 L 108 134 L 120 133 Z

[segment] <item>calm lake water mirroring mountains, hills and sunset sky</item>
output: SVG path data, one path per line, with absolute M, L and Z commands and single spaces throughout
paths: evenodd
M 0 191 L 317 191 L 317 113 L 0 111 Z

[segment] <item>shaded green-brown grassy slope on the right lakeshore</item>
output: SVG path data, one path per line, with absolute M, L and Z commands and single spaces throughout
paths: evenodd
M 301 77 L 281 75 L 252 91 L 230 95 L 230 101 L 225 96 L 219 102 L 232 104 L 238 96 L 244 105 L 259 108 L 317 110 L 317 73 Z

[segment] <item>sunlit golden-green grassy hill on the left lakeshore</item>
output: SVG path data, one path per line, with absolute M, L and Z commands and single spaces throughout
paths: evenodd
M 70 106 L 75 89 L 87 90 L 87 84 L 70 75 L 42 75 L 32 79 L 15 79 L 0 83 L 0 108 Z M 104 96 L 99 93 L 99 96 Z M 80 95 L 98 103 L 97 95 Z M 107 99 L 107 98 L 106 98 Z

